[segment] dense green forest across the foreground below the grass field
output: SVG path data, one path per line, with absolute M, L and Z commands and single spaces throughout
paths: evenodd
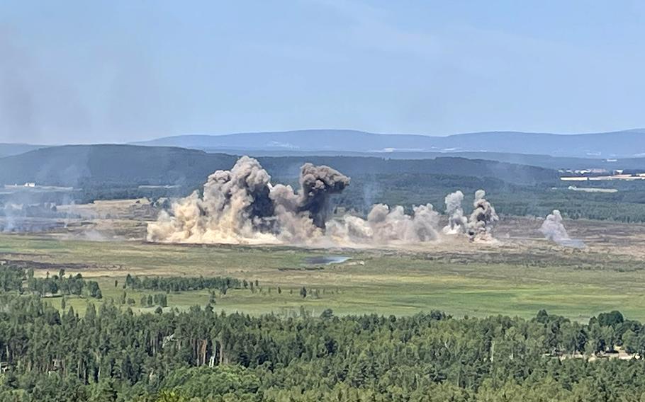
M 133 314 L 0 294 L 1 401 L 624 400 L 645 395 L 645 328 L 618 311 L 532 319 L 279 318 L 212 306 Z

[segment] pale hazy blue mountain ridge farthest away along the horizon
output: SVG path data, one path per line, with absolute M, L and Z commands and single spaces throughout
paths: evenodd
M 354 130 L 299 130 L 225 135 L 179 135 L 138 145 L 182 147 L 203 151 L 271 151 L 283 154 L 398 154 L 491 152 L 615 159 L 645 156 L 645 129 L 595 134 L 476 132 L 431 137 L 418 134 L 374 134 Z

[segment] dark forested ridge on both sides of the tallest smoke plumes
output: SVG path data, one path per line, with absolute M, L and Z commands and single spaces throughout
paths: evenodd
M 198 185 L 210 173 L 229 169 L 237 156 L 194 149 L 132 145 L 74 145 L 37 149 L 0 159 L 0 183 L 96 187 L 101 185 Z M 307 162 L 326 164 L 343 173 L 445 174 L 497 178 L 507 183 L 534 184 L 557 180 L 551 169 L 481 159 L 441 157 L 394 160 L 350 156 L 288 156 L 259 158 L 277 177 L 298 176 Z

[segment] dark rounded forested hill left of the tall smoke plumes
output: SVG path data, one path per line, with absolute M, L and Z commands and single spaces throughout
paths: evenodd
M 204 181 L 235 159 L 172 147 L 67 145 L 0 159 L 0 183 L 93 187 Z

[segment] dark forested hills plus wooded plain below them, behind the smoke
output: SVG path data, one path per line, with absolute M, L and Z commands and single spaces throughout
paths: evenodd
M 201 188 L 209 174 L 228 169 L 237 156 L 196 149 L 133 145 L 48 147 L 0 159 L 2 184 L 35 182 L 36 188 L 7 188 L 0 205 L 91 202 L 120 198 L 181 197 Z M 485 189 L 500 214 L 545 216 L 554 207 L 568 217 L 645 222 L 642 183 L 606 183 L 614 193 L 568 189 L 554 169 L 483 159 L 386 159 L 375 156 L 262 156 L 274 183 L 298 184 L 305 161 L 326 164 L 352 178 L 336 205 L 366 212 L 374 202 L 420 205 L 439 210 L 447 193 L 462 190 L 471 200 Z M 605 183 L 595 183 L 595 186 Z M 74 190 L 42 186 L 73 187 Z M 468 201 L 470 202 L 470 201 Z

